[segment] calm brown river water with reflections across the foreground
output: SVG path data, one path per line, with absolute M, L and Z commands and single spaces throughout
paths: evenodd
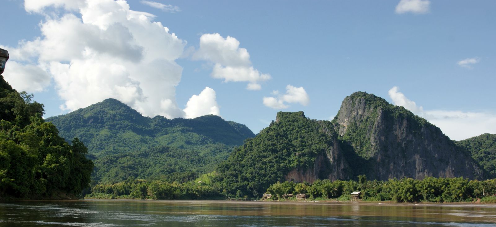
M 496 226 L 496 205 L 171 200 L 3 201 L 0 226 Z

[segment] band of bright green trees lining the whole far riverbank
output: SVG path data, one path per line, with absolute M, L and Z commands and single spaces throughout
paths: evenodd
M 316 180 L 313 183 L 277 182 L 266 192 L 270 200 L 296 200 L 283 198 L 284 194 L 308 194 L 310 200 L 349 201 L 350 193 L 361 191 L 362 201 L 394 202 L 474 202 L 496 203 L 496 179 L 468 180 L 458 178 L 427 177 L 390 179 L 388 181 L 367 180 L 365 175 L 355 180 Z M 97 184 L 85 198 L 93 199 L 259 199 L 244 195 L 241 190 L 229 194 L 215 183 L 165 182 L 129 178 L 115 184 Z

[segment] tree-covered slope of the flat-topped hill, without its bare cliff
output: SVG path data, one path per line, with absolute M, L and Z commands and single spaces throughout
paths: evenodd
M 322 132 L 324 124 L 330 122 L 311 120 L 303 112 L 279 112 L 275 122 L 218 166 L 214 181 L 229 193 L 241 190 L 257 197 L 290 170 L 308 169 L 319 154 L 332 149 L 332 137 Z

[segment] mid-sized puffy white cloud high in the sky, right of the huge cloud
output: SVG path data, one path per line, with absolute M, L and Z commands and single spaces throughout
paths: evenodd
M 269 74 L 253 68 L 247 49 L 240 48 L 240 42 L 220 34 L 203 34 L 200 48 L 192 56 L 195 60 L 207 60 L 214 63 L 212 77 L 224 79 L 224 82 L 248 82 L 248 90 L 260 90 L 260 82 L 270 79 Z

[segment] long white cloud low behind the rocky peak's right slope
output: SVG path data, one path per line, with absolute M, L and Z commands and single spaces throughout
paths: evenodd
M 389 90 L 393 104 L 402 106 L 414 114 L 424 117 L 439 127 L 454 140 L 463 140 L 484 133 L 496 133 L 496 114 L 489 112 L 464 112 L 446 110 L 424 110 L 407 99 L 397 87 Z

